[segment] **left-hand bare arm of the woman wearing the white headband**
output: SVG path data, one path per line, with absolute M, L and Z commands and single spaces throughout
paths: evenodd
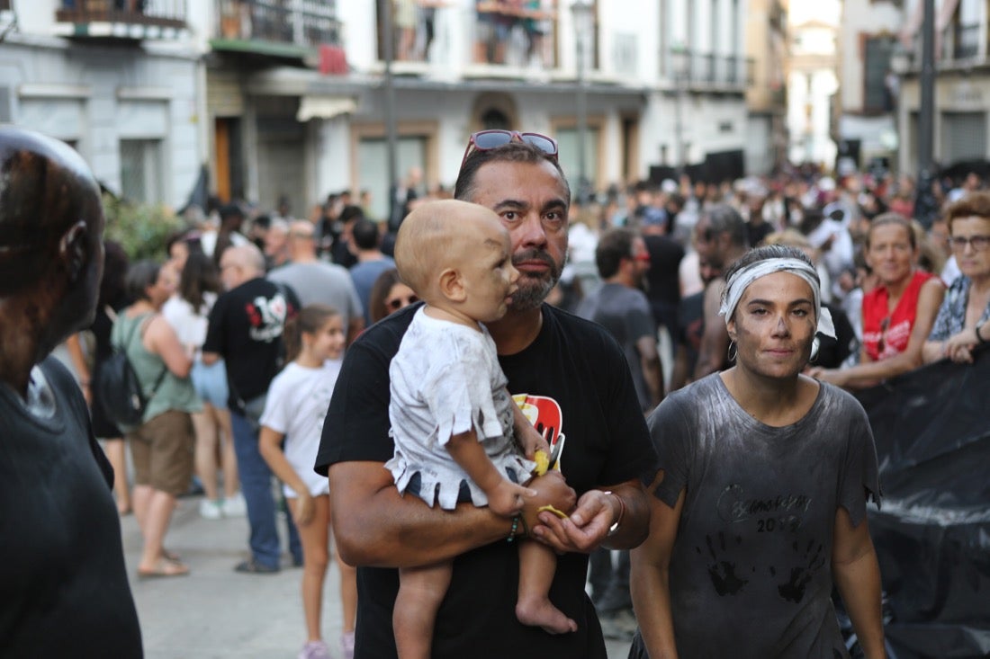
M 677 647 L 670 609 L 670 556 L 684 509 L 684 491 L 672 509 L 655 497 L 649 497 L 649 508 L 649 537 L 630 553 L 629 585 L 649 656 L 671 659 L 677 657 Z

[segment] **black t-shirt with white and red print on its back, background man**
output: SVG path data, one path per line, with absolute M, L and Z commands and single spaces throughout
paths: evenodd
M 260 277 L 217 298 L 210 312 L 203 352 L 224 357 L 231 395 L 228 404 L 264 394 L 278 373 L 285 321 L 299 312 L 299 299 L 288 286 Z

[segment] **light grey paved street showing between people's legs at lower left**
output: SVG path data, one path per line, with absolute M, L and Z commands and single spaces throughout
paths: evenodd
M 141 535 L 134 516 L 122 518 L 124 551 L 148 659 L 294 659 L 305 641 L 298 569 L 242 575 L 247 520 L 199 517 L 199 499 L 182 499 L 166 546 L 182 556 L 187 577 L 138 581 Z M 287 559 L 286 559 L 287 560 Z M 340 656 L 338 573 L 328 575 L 324 635 Z M 610 641 L 610 659 L 625 658 L 628 643 Z

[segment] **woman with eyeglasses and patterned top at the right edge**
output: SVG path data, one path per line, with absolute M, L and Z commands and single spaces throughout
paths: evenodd
M 970 193 L 945 215 L 948 241 L 962 274 L 945 294 L 925 341 L 924 359 L 972 363 L 973 348 L 990 343 L 990 193 Z

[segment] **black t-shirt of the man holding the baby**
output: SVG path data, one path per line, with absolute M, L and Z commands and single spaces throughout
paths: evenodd
M 336 462 L 392 457 L 388 436 L 388 365 L 419 305 L 367 329 L 347 349 L 324 424 L 316 470 Z M 607 331 L 547 305 L 536 340 L 514 355 L 500 355 L 517 402 L 537 424 L 566 437 L 560 467 L 578 496 L 640 477 L 651 479 L 656 457 L 622 350 Z M 384 467 L 383 467 L 384 468 Z M 333 484 L 331 484 L 333 487 Z M 437 617 L 433 655 L 439 658 L 604 659 L 605 643 L 584 592 L 587 556 L 558 557 L 550 600 L 578 624 L 551 636 L 516 619 L 519 557 L 497 542 L 458 556 Z M 396 656 L 392 606 L 398 591 L 393 569 L 358 568 L 355 659 Z

